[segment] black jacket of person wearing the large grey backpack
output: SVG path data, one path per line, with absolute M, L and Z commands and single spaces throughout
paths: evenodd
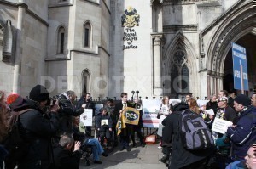
M 168 115 L 163 121 L 163 141 L 167 144 L 172 143 L 172 161 L 169 168 L 177 169 L 183 166 L 189 166 L 190 164 L 201 161 L 207 156 L 212 155 L 211 149 L 203 149 L 200 151 L 189 151 L 184 149 L 183 144 L 180 140 L 177 131 L 177 125 L 179 120 L 180 113 L 189 109 L 188 104 L 180 103 L 174 106 L 173 112 L 171 115 Z

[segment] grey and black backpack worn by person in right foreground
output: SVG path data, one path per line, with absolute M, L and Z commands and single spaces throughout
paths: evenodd
M 178 132 L 185 149 L 207 149 L 214 145 L 212 132 L 201 115 L 190 110 L 179 115 Z

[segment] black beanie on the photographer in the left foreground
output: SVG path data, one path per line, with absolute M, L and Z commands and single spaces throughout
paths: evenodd
M 37 85 L 30 91 L 29 98 L 37 102 L 43 102 L 49 99 L 49 92 L 44 86 Z

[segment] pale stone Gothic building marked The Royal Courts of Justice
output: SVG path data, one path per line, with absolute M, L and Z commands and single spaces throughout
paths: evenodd
M 233 88 L 231 43 L 256 82 L 252 0 L 1 0 L 0 89 L 205 98 Z

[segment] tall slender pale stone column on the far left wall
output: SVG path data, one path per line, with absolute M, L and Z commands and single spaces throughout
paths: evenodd
M 20 93 L 20 70 L 21 70 L 21 49 L 22 40 L 21 33 L 23 30 L 22 23 L 23 17 L 26 13 L 27 5 L 20 0 L 18 4 L 18 20 L 17 20 L 17 37 L 16 37 L 16 51 L 15 51 L 15 70 L 14 70 L 14 82 L 13 82 L 13 93 Z

